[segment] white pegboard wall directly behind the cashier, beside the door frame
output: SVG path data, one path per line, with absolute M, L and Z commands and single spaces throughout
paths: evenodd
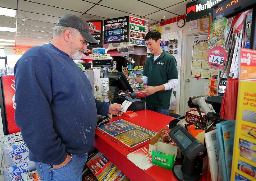
M 178 40 L 178 42 L 170 43 L 168 46 L 164 46 L 165 51 L 173 51 L 171 54 L 173 57 L 175 57 L 177 61 L 177 70 L 178 70 L 178 75 L 179 75 L 179 85 L 173 89 L 173 91 L 176 91 L 176 114 L 180 114 L 180 70 L 181 70 L 181 45 L 182 45 L 182 30 L 180 31 L 175 31 L 171 33 L 166 33 L 162 34 L 162 41 L 170 41 L 170 40 Z M 170 48 L 171 45 L 173 48 Z M 176 48 L 177 45 L 177 48 Z M 174 51 L 177 50 L 177 54 L 174 53 Z

